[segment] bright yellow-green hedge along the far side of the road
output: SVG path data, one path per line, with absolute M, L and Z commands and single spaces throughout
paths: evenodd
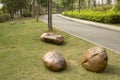
M 107 11 L 99 12 L 93 10 L 67 11 L 62 13 L 65 16 L 102 22 L 102 23 L 120 23 L 120 12 Z

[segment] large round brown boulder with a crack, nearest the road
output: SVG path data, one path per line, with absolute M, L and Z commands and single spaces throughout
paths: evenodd
M 82 66 L 92 72 L 101 72 L 103 71 L 108 63 L 108 56 L 104 48 L 100 46 L 95 46 L 82 57 Z

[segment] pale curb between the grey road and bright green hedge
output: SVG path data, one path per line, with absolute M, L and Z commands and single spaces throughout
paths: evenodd
M 93 26 L 96 26 L 96 27 L 99 27 L 99 28 L 105 28 L 105 29 L 120 31 L 120 27 L 118 27 L 118 26 L 112 26 L 112 25 L 109 25 L 109 24 L 103 24 L 103 23 L 97 23 L 97 22 L 92 22 L 92 21 L 86 21 L 86 20 L 71 18 L 71 17 L 63 16 L 61 14 L 59 14 L 59 16 L 62 17 L 62 18 L 68 19 L 68 20 L 93 25 Z

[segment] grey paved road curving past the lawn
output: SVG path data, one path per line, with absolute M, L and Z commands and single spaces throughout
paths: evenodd
M 42 16 L 41 18 L 47 23 L 47 16 Z M 53 25 L 65 32 L 120 53 L 119 31 L 67 20 L 58 14 L 53 15 Z

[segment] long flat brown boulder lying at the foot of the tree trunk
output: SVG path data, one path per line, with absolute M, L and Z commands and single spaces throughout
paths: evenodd
M 53 33 L 43 33 L 41 35 L 41 40 L 48 43 L 62 44 L 64 42 L 64 37 Z

